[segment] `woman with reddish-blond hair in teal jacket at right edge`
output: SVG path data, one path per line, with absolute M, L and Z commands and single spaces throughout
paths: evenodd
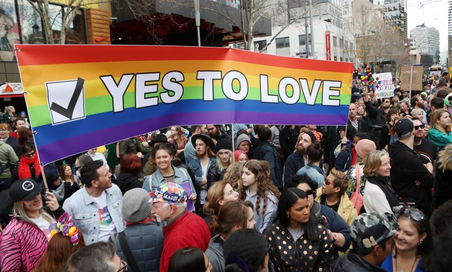
M 430 126 L 432 128 L 428 131 L 428 139 L 433 141 L 438 149 L 452 143 L 452 125 L 448 111 L 435 110 L 430 117 Z

